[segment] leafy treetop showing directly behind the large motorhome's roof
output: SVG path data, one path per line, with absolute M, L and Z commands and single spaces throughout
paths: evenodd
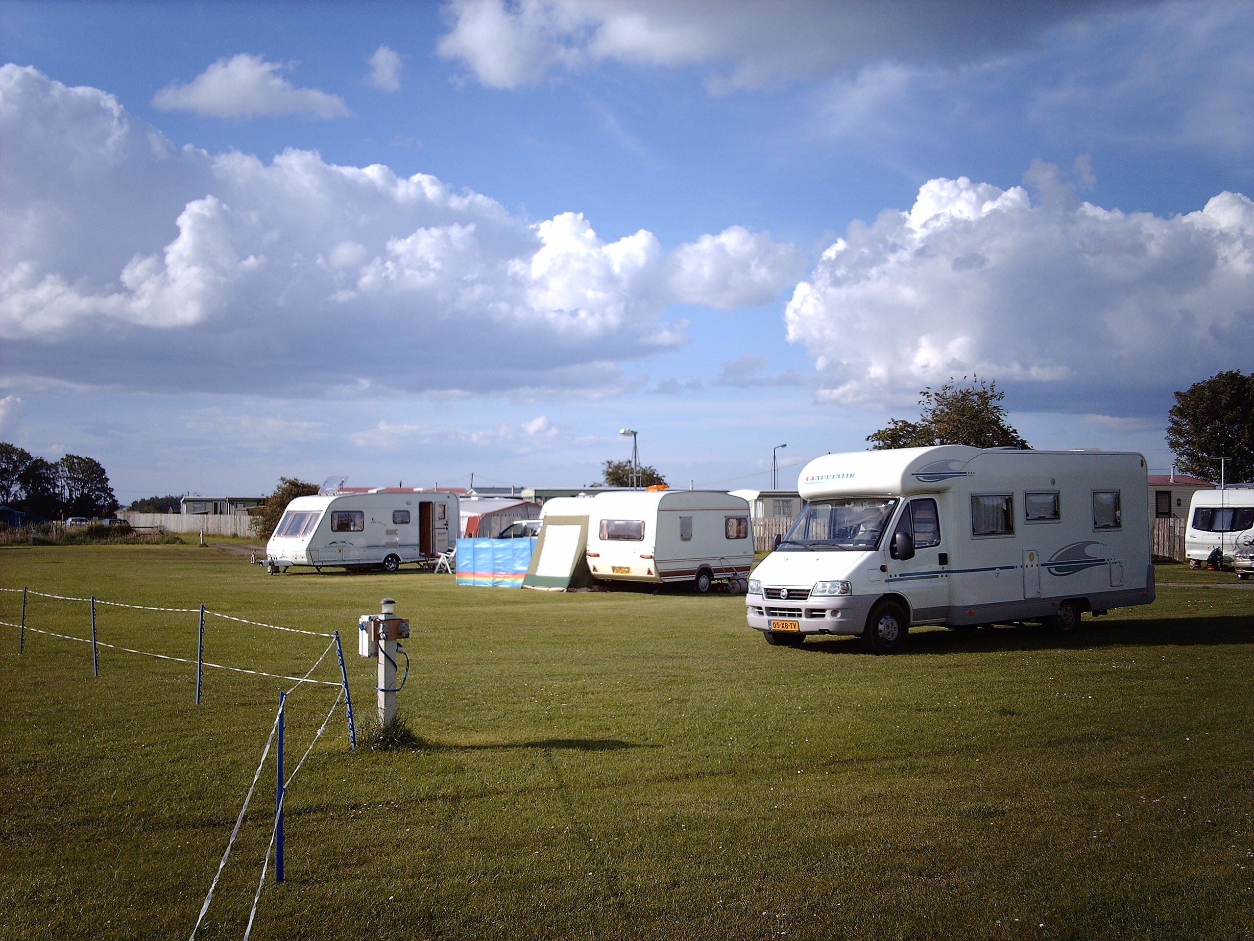
M 919 393 L 922 414 L 918 422 L 889 419 L 887 428 L 867 435 L 872 450 L 887 448 L 925 448 L 933 444 L 969 444 L 973 448 L 1028 448 L 1018 432 L 1006 424 L 1006 409 L 996 381 L 972 376 L 963 385 L 949 379 L 935 391 Z

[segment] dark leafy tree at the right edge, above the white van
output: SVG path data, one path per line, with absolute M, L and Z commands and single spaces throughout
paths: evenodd
M 1254 481 L 1254 373 L 1216 373 L 1175 394 L 1167 418 L 1167 445 L 1179 468 L 1219 481 L 1219 458 L 1228 483 Z

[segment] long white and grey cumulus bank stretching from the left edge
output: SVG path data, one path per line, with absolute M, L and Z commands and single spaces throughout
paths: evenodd
M 15 65 L 0 138 L 0 336 L 28 378 L 596 398 L 685 341 L 670 304 L 761 302 L 794 257 L 735 227 L 668 255 L 646 230 L 602 238 L 577 212 L 533 222 L 307 151 L 178 148 L 112 95 Z

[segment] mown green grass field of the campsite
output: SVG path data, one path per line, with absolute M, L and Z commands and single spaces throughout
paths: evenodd
M 194 607 L 346 639 L 384 595 L 431 747 L 347 749 L 287 805 L 258 938 L 1251 938 L 1254 592 L 1164 566 L 1147 609 L 1035 627 L 770 647 L 744 600 L 268 577 L 196 546 L 0 550 L 0 585 Z M 16 621 L 20 595 L 0 596 Z M 28 622 L 87 636 L 85 606 Z M 178 656 L 196 617 L 98 611 Z M 211 620 L 206 657 L 303 673 L 319 637 Z M 0 937 L 187 937 L 290 684 L 0 627 Z M 317 676 L 335 679 L 334 657 Z M 290 700 L 288 768 L 335 690 Z M 241 937 L 273 769 L 201 937 Z

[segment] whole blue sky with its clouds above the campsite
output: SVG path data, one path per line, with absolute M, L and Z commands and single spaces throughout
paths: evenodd
M 1171 391 L 1254 369 L 1251 38 L 1243 3 L 0 4 L 0 435 L 123 501 L 584 484 L 624 425 L 765 486 L 978 371 L 1036 447 L 1165 468 Z

